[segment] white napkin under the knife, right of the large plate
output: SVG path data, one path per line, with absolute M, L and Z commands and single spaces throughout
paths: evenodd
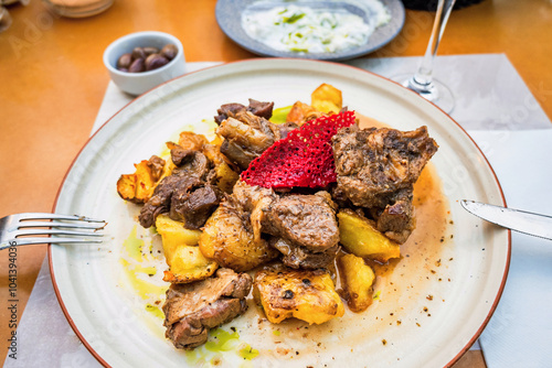
M 508 207 L 552 215 L 552 129 L 470 131 Z M 508 281 L 479 343 L 489 368 L 552 367 L 552 240 L 512 231 Z

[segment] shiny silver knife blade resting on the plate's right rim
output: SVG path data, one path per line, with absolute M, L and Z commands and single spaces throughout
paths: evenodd
M 527 235 L 552 240 L 551 216 L 467 199 L 460 201 L 460 204 L 467 212 L 489 223 Z

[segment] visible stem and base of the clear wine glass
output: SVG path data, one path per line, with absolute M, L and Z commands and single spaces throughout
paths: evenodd
M 456 0 L 438 0 L 432 36 L 417 72 L 414 75 L 412 73 L 402 74 L 391 78 L 437 105 L 445 112 L 453 111 L 455 100 L 450 89 L 433 78 L 433 64 L 435 55 L 437 55 L 440 37 L 443 36 L 443 32 L 445 32 L 445 25 L 455 2 Z

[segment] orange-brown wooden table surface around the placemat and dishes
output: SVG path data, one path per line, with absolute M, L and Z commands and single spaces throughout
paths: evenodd
M 105 13 L 78 20 L 53 15 L 39 0 L 9 7 L 13 23 L 0 33 L 0 217 L 52 210 L 64 174 L 86 143 L 102 104 L 109 80 L 102 55 L 115 39 L 158 30 L 182 41 L 188 62 L 255 57 L 219 29 L 215 3 L 115 0 Z M 407 11 L 401 34 L 369 56 L 423 55 L 432 24 L 432 13 Z M 454 11 L 439 55 L 505 53 L 552 117 L 551 24 L 549 0 L 485 0 Z M 45 252 L 45 246 L 18 249 L 18 321 Z M 11 333 L 8 264 L 8 251 L 1 251 L 2 364 Z M 485 362 L 479 351 L 469 351 L 455 367 L 485 367 Z

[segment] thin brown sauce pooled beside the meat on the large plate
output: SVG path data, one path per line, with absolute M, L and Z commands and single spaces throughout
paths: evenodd
M 361 128 L 389 127 L 359 113 L 357 118 Z M 401 246 L 401 258 L 384 264 L 368 261 L 374 269 L 376 281 L 373 286 L 373 303 L 364 312 L 353 313 L 346 306 L 344 316 L 322 325 L 308 325 L 297 320 L 287 320 L 273 325 L 266 321 L 261 310 L 250 305 L 250 311 L 244 317 L 257 320 L 257 326 L 262 331 L 274 332 L 274 334 L 266 333 L 265 337 L 274 345 L 269 344 L 272 346 L 269 350 L 261 348 L 262 355 L 290 359 L 298 358 L 295 353 L 320 356 L 325 355 L 323 351 L 332 351 L 337 358 L 339 354 L 336 350 L 336 339 L 347 342 L 346 345 L 338 344 L 341 348 L 347 347 L 347 351 L 357 351 L 358 348 L 362 349 L 362 344 L 373 344 L 374 340 L 379 344 L 385 340 L 392 345 L 393 333 L 397 331 L 400 333 L 401 328 L 408 325 L 421 326 L 425 323 L 417 320 L 417 315 L 429 318 L 433 310 L 424 311 L 425 305 L 432 305 L 434 299 L 434 303 L 444 302 L 440 300 L 440 289 L 437 285 L 450 282 L 446 269 L 453 260 L 447 256 L 447 248 L 453 246 L 453 241 L 449 241 L 452 220 L 448 199 L 444 195 L 438 173 L 432 162 L 425 166 L 414 185 L 414 207 L 416 228 Z M 340 288 L 338 275 L 337 289 Z M 344 301 L 343 303 L 347 304 Z M 413 318 L 413 314 L 416 314 L 416 317 Z M 294 348 L 287 351 L 291 346 Z M 275 347 L 279 347 L 280 351 L 274 349 Z

